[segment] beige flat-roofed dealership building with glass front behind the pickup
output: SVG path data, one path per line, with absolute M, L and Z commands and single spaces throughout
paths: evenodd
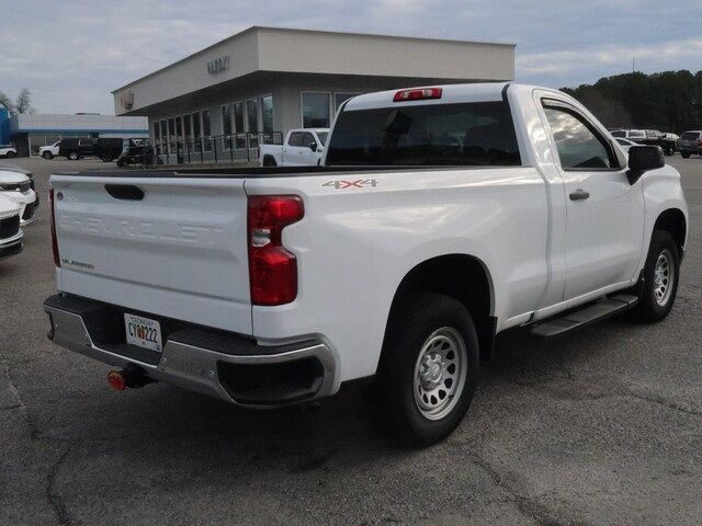
M 178 162 L 246 158 L 372 91 L 514 78 L 514 45 L 250 27 L 113 91 Z M 254 153 L 253 153 L 254 155 Z

